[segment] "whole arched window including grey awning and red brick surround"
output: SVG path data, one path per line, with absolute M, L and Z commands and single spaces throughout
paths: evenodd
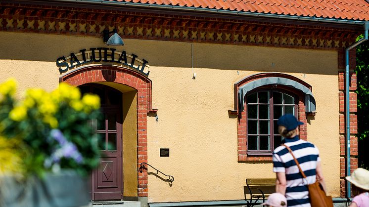
M 280 145 L 277 120 L 294 114 L 301 122 L 299 136 L 307 139 L 307 116 L 314 115 L 316 102 L 312 86 L 283 73 L 260 73 L 234 83 L 238 161 L 272 161 Z

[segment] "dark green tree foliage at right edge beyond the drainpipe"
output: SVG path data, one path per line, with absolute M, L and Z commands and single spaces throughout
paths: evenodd
M 357 41 L 363 38 L 361 35 Z M 356 47 L 359 166 L 369 169 L 369 41 Z

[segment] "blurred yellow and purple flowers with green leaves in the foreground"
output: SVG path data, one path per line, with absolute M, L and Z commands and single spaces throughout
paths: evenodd
M 46 171 L 64 168 L 89 175 L 100 158 L 91 124 L 99 114 L 99 97 L 81 97 L 78 88 L 66 83 L 50 93 L 28 89 L 22 100 L 14 93 L 14 80 L 0 84 L 0 137 L 20 140 L 17 150 L 24 155 L 20 173 L 42 177 Z

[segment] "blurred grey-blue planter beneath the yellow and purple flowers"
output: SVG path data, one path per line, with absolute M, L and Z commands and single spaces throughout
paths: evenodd
M 81 207 L 88 205 L 88 178 L 74 171 L 47 173 L 18 181 L 15 176 L 0 177 L 0 206 L 4 207 Z

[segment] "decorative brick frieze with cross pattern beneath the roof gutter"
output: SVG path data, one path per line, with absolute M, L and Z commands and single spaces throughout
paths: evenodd
M 232 20 L 90 8 L 0 3 L 0 31 L 102 36 L 117 29 L 123 38 L 211 42 L 342 51 L 357 31 L 309 25 Z M 355 53 L 355 52 L 353 52 Z

